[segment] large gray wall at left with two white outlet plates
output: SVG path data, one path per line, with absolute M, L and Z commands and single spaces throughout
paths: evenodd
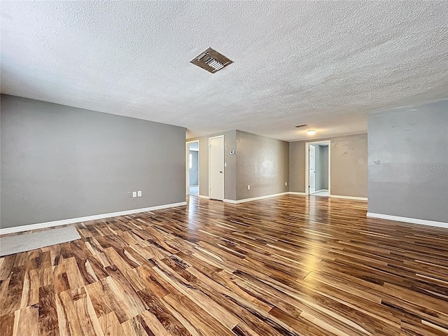
M 185 177 L 183 127 L 1 96 L 1 228 L 185 202 Z

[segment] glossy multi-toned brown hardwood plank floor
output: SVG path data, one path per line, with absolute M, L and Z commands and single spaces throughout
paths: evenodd
M 0 259 L 1 335 L 447 335 L 448 230 L 281 196 L 78 224 Z

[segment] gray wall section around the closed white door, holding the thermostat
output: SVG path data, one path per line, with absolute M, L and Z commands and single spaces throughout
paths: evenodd
M 235 154 L 230 154 L 230 151 L 235 151 L 237 130 L 210 134 L 204 137 L 187 139 L 187 141 L 199 140 L 200 149 L 200 193 L 202 196 L 209 196 L 209 138 L 217 137 L 218 135 L 224 135 L 224 162 L 226 167 L 224 168 L 224 198 L 228 200 L 237 199 L 236 190 L 236 164 L 237 159 Z

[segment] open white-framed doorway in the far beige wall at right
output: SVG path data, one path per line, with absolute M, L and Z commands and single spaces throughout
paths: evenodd
M 305 193 L 330 196 L 330 141 L 308 142 L 305 146 Z

